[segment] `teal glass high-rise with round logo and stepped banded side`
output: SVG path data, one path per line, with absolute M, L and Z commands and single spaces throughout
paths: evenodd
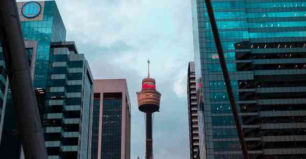
M 88 62 L 74 42 L 65 41 L 66 29 L 55 1 L 20 2 L 17 7 L 48 158 L 86 159 L 90 152 L 93 104 L 93 78 Z M 3 52 L 0 55 L 0 78 L 4 84 Z M 19 158 L 22 148 L 15 108 L 8 84 L 5 89 L 0 96 L 6 102 L 0 158 Z

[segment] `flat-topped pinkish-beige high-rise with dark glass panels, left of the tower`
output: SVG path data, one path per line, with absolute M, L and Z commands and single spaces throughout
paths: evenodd
M 125 79 L 94 80 L 92 159 L 130 159 L 131 103 Z

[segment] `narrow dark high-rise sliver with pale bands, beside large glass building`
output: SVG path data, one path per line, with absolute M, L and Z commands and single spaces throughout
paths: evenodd
M 188 126 L 190 159 L 196 158 L 199 149 L 198 107 L 194 62 L 189 62 L 187 74 Z

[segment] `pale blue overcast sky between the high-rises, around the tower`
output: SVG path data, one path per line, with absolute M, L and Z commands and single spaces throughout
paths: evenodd
M 136 91 L 147 74 L 162 93 L 155 113 L 154 157 L 189 158 L 187 69 L 193 60 L 190 0 L 58 0 L 67 30 L 95 79 L 126 78 L 131 114 L 131 158 L 144 158 L 145 123 Z

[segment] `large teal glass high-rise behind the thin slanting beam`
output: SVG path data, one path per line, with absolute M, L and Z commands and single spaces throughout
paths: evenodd
M 202 97 L 200 158 L 242 158 L 205 0 L 191 2 Z M 305 158 L 306 112 L 297 105 L 305 104 L 300 91 L 306 83 L 301 64 L 306 3 L 212 0 L 212 5 L 250 158 Z M 239 47 L 243 42 L 247 47 Z

